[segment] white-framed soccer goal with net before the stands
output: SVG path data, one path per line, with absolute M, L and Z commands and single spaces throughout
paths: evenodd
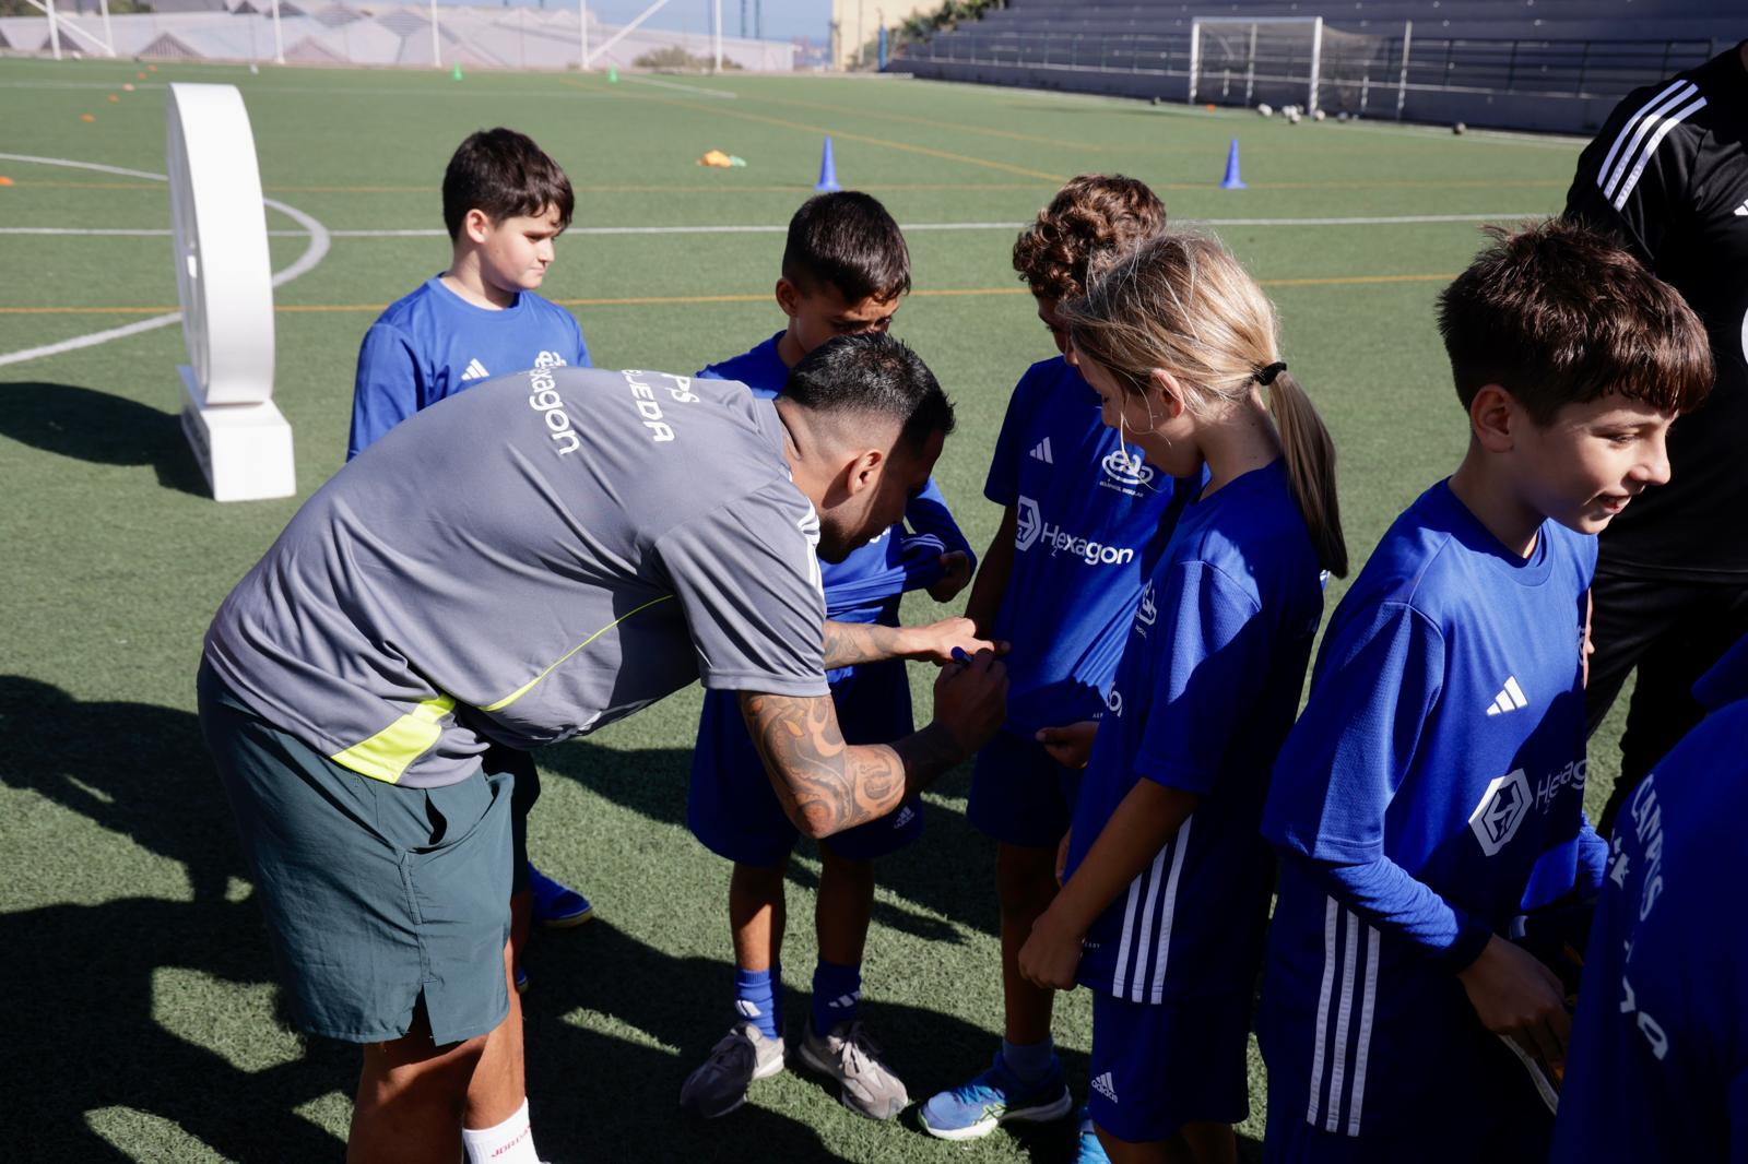
M 1189 100 L 1356 112 L 1365 89 L 1386 80 L 1390 44 L 1328 28 L 1321 16 L 1197 16 L 1190 21 Z

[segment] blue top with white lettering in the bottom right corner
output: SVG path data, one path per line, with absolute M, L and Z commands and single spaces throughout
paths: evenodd
M 1556 1164 L 1748 1161 L 1748 640 L 1694 696 L 1718 706 L 1615 823 L 1584 958 Z

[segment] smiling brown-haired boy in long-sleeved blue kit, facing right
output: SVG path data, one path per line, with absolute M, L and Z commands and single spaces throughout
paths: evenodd
M 1502 933 L 1601 883 L 1594 535 L 1668 479 L 1669 423 L 1711 383 L 1682 297 L 1557 220 L 1496 234 L 1439 327 L 1468 451 L 1337 606 L 1264 813 L 1271 1161 L 1545 1159 L 1552 1120 L 1502 1040 L 1557 1073 L 1570 1017 Z

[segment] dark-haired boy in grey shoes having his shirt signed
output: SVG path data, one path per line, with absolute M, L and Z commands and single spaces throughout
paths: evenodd
M 699 376 L 738 379 L 767 400 L 813 398 L 825 386 L 804 374 L 802 358 L 836 336 L 884 332 L 909 288 L 911 255 L 884 206 L 853 191 L 808 199 L 788 224 L 783 276 L 776 283 L 788 327 Z M 879 376 L 855 381 L 857 391 L 876 395 L 884 390 L 881 383 Z M 846 559 L 825 565 L 829 619 L 897 627 L 904 591 L 928 587 L 935 601 L 947 601 L 970 579 L 970 545 L 933 479 L 909 498 L 902 517 Z M 902 659 L 839 668 L 829 680 L 846 743 L 888 743 L 911 732 L 911 682 Z M 799 837 L 771 790 L 731 692 L 704 692 L 687 825 L 710 851 L 734 862 L 729 926 L 736 1021 L 680 1087 L 683 1110 L 715 1119 L 738 1108 L 755 1078 L 785 1066 L 783 870 Z M 874 858 L 911 844 L 921 832 L 921 804 L 905 800 L 895 813 L 820 844 L 815 909 L 820 961 L 799 1056 L 837 1080 L 848 1108 L 872 1119 L 891 1119 L 909 1103 L 904 1082 L 858 1019 Z

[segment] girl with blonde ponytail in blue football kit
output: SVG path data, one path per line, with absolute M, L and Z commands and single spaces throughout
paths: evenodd
M 1094 991 L 1089 1110 L 1113 1161 L 1232 1161 L 1273 884 L 1262 802 L 1321 573 L 1348 568 L 1334 451 L 1273 306 L 1220 243 L 1159 234 L 1058 313 L 1105 425 L 1206 484 L 1141 591 L 1066 881 L 1019 965 Z

